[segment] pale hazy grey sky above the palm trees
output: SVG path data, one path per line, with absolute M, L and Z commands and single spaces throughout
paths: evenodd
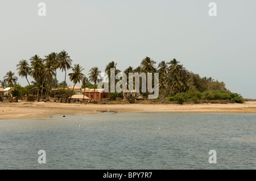
M 39 2 L 46 3 L 46 16 L 38 16 Z M 209 16 L 210 2 L 217 16 Z M 22 59 L 64 49 L 85 74 L 94 66 L 104 71 L 110 61 L 123 71 L 146 56 L 157 64 L 176 58 L 189 71 L 256 98 L 255 0 L 1 0 L 0 22 L 0 79 L 9 70 L 17 75 Z

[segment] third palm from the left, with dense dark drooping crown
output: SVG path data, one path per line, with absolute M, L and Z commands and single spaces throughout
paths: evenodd
M 37 99 L 39 102 L 39 88 L 43 70 L 43 60 L 37 54 L 30 58 L 31 75 L 35 79 L 37 89 Z

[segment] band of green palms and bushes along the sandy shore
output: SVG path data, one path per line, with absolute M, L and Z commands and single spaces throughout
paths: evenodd
M 82 89 L 89 87 L 90 89 L 97 88 L 97 83 L 101 81 L 101 71 L 94 67 L 89 70 L 88 77 L 82 71 L 81 65 L 72 65 L 72 60 L 65 50 L 60 53 L 50 53 L 45 58 L 40 58 L 38 55 L 32 56 L 30 62 L 27 60 L 19 61 L 16 65 L 18 75 L 21 78 L 26 78 L 28 85 L 25 87 L 17 84 L 18 78 L 15 73 L 9 71 L 6 73 L 3 81 L 0 81 L 2 87 L 15 87 L 11 92 L 13 96 L 34 94 L 36 100 L 47 101 L 48 96 L 56 99 L 68 98 L 73 95 L 75 85 L 81 83 Z M 110 77 L 110 69 L 115 68 L 115 74 L 121 72 L 117 68 L 117 63 L 114 61 L 106 65 L 105 73 Z M 71 69 L 72 73 L 68 74 L 69 79 L 73 82 L 73 89 L 67 89 L 67 71 Z M 57 80 L 57 70 L 65 72 L 64 81 L 59 83 Z M 200 100 L 225 100 L 226 102 L 243 103 L 243 98 L 240 94 L 230 92 L 226 89 L 224 82 L 215 81 L 213 78 L 203 77 L 199 74 L 192 73 L 184 68 L 179 61 L 173 59 L 171 61 L 161 61 L 158 65 L 150 57 L 146 57 L 141 61 L 141 65 L 137 68 L 129 66 L 125 69 L 128 77 L 129 73 L 159 73 L 159 100 L 167 102 L 175 102 L 183 104 L 184 102 L 199 103 Z M 34 81 L 29 82 L 28 77 L 32 77 Z M 154 79 L 154 76 L 152 77 Z M 154 81 L 153 86 L 154 86 Z M 129 89 L 129 87 L 127 87 Z M 142 93 L 144 98 L 147 98 L 148 93 Z M 109 94 L 110 98 L 123 97 L 123 94 L 117 92 Z M 92 99 L 91 99 L 92 100 Z

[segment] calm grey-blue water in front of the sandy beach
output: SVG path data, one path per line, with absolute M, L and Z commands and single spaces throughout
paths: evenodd
M 0 169 L 256 169 L 256 115 L 55 118 L 0 120 Z M 46 164 L 38 163 L 39 150 Z M 209 150 L 217 151 L 217 164 L 209 164 Z

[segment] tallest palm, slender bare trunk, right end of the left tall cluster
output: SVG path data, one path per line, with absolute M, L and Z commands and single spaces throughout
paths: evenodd
M 61 69 L 61 71 L 65 71 L 65 81 L 64 81 L 65 83 L 64 83 L 63 92 L 61 95 L 61 102 L 62 102 L 64 90 L 65 90 L 65 84 L 66 84 L 66 74 L 67 74 L 67 70 L 69 70 L 71 68 L 72 60 L 70 59 L 70 56 L 68 55 L 68 53 L 65 50 L 61 51 L 58 54 L 58 57 L 60 60 L 59 68 Z

